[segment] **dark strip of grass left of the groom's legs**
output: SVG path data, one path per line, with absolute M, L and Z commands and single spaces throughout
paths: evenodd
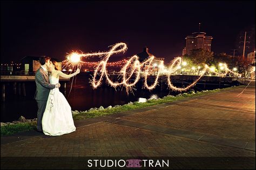
M 36 122 L 1 126 L 1 136 L 36 129 Z

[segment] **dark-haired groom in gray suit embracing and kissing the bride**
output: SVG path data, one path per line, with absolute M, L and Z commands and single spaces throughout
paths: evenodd
M 40 57 L 39 62 L 41 67 L 36 71 L 36 94 L 35 99 L 37 101 L 38 111 L 37 111 L 37 131 L 43 132 L 42 128 L 42 118 L 44 114 L 44 110 L 46 107 L 46 103 L 48 100 L 48 96 L 50 93 L 50 89 L 59 88 L 60 84 L 50 84 L 48 71 L 46 67 L 52 67 L 52 63 L 50 62 L 50 57 Z

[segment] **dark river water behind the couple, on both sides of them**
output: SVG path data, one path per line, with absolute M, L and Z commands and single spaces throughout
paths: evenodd
M 137 86 L 133 90 L 133 93 L 126 93 L 125 88 L 118 87 L 114 89 L 108 85 L 102 85 L 98 89 L 93 90 L 92 86 L 89 84 L 89 78 L 91 78 L 90 73 L 81 72 L 73 79 L 72 89 L 71 83 L 72 78 L 66 84 L 66 98 L 73 111 L 85 111 L 92 107 L 103 106 L 114 106 L 114 105 L 124 105 L 130 101 L 138 101 L 138 98 L 150 98 L 152 94 L 157 94 L 158 97 L 164 97 L 168 94 L 176 95 L 177 92 L 173 92 L 167 89 L 167 85 L 163 84 L 163 90 L 160 90 L 160 84 L 156 89 L 149 91 L 147 89 L 142 89 L 143 81 L 139 81 Z M 60 82 L 62 83 L 62 82 Z M 149 83 L 150 84 L 150 83 Z M 181 84 L 174 84 L 181 86 Z M 1 101 L 1 122 L 11 122 L 18 120 L 18 118 L 23 115 L 26 119 L 33 119 L 37 117 L 37 103 L 33 99 L 36 84 L 34 81 L 26 82 L 26 97 L 14 95 L 12 89 L 12 83 L 5 85 L 5 101 Z M 220 88 L 228 87 L 221 85 Z M 217 89 L 217 85 L 206 85 L 207 90 Z M 203 84 L 197 84 L 193 87 L 195 91 L 204 90 Z M 60 92 L 64 93 L 63 84 L 60 87 Z M 70 95 L 68 96 L 70 92 Z M 21 92 L 22 93 L 22 92 Z

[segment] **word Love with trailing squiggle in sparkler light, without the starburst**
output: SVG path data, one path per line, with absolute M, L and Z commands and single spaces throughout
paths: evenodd
M 118 50 L 119 49 L 119 50 Z M 144 67 L 145 72 L 142 74 L 142 76 L 145 78 L 144 81 L 144 85 L 147 89 L 152 90 L 156 87 L 156 85 L 158 84 L 158 78 L 159 78 L 159 74 L 160 71 L 158 71 L 158 74 L 154 80 L 154 83 L 152 85 L 148 85 L 147 84 L 147 76 L 149 74 L 150 71 L 150 65 L 153 62 L 154 56 L 151 56 L 149 59 L 147 59 L 145 62 L 140 63 L 139 62 L 139 57 L 138 56 L 132 56 L 125 64 L 125 66 L 122 68 L 122 70 L 120 71 L 120 76 L 122 76 L 122 80 L 120 82 L 113 82 L 110 78 L 109 78 L 109 74 L 107 73 L 107 69 L 106 69 L 106 65 L 107 62 L 109 60 L 109 58 L 111 57 L 112 54 L 114 53 L 118 53 L 118 52 L 125 52 L 127 49 L 127 46 L 125 43 L 118 43 L 112 46 L 112 49 L 109 52 L 105 52 L 105 57 L 103 60 L 101 60 L 98 64 L 98 66 L 96 67 L 96 70 L 93 74 L 93 79 L 91 81 L 91 84 L 93 86 L 94 89 L 96 89 L 100 83 L 102 82 L 103 77 L 106 77 L 106 81 L 107 83 L 109 83 L 112 87 L 117 87 L 117 86 L 124 86 L 126 88 L 127 93 L 129 92 L 130 88 L 132 86 L 134 86 L 140 78 L 140 74 L 142 73 L 141 68 Z M 100 53 L 102 54 L 102 53 Z M 93 55 L 96 55 L 96 53 L 94 53 Z M 176 72 L 181 64 L 181 58 L 177 57 L 176 59 L 172 60 L 172 63 L 168 69 L 167 72 L 167 82 L 168 85 L 170 87 L 170 89 L 175 90 L 175 91 L 186 91 L 187 89 L 189 89 L 190 87 L 194 86 L 197 81 L 203 77 L 204 73 L 206 71 L 211 71 L 214 72 L 215 74 L 218 74 L 219 76 L 225 76 L 228 72 L 231 72 L 233 74 L 235 74 L 236 76 L 241 76 L 241 74 L 232 72 L 230 69 L 228 69 L 227 65 L 224 64 L 223 69 L 225 70 L 225 73 L 218 73 L 213 71 L 208 65 L 204 66 L 203 71 L 201 71 L 201 73 L 199 74 L 199 78 L 197 80 L 195 80 L 193 83 L 191 83 L 190 85 L 188 85 L 187 87 L 181 88 L 181 87 L 176 87 L 172 84 L 171 82 L 171 74 Z M 161 61 L 159 68 L 164 68 L 164 62 Z M 130 79 L 132 78 L 132 76 L 134 75 L 134 80 L 133 83 L 129 83 Z M 99 79 L 96 80 L 96 77 L 99 76 Z

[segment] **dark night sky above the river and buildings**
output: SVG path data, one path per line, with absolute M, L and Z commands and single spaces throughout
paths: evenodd
M 199 23 L 213 37 L 212 51 L 231 54 L 242 31 L 255 36 L 255 1 L 1 1 L 1 63 L 42 55 L 64 60 L 72 50 L 106 51 L 119 42 L 128 50 L 113 60 L 146 45 L 168 62 Z

